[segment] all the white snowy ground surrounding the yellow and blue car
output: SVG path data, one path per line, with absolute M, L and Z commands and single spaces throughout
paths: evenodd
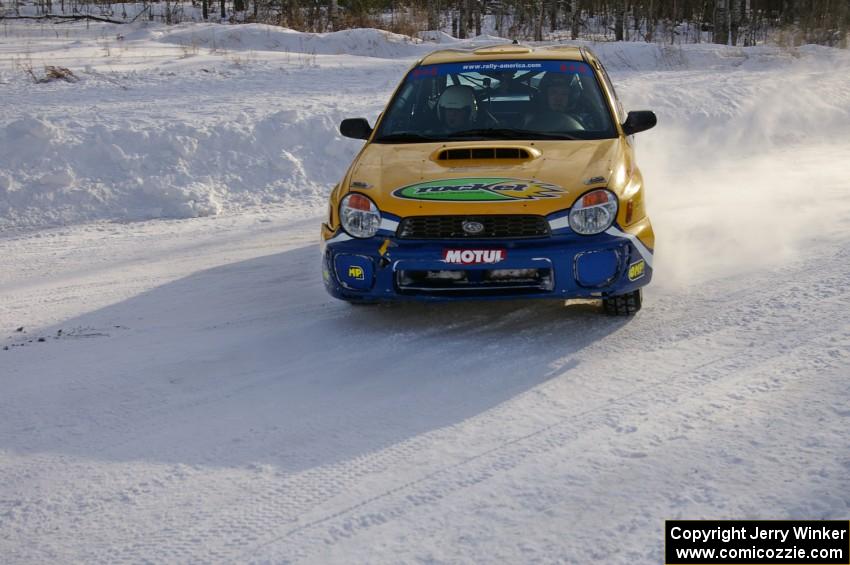
M 848 517 L 846 52 L 596 48 L 660 121 L 612 320 L 327 297 L 336 124 L 432 46 L 232 29 L 0 34 L 4 562 L 658 563 L 664 519 Z

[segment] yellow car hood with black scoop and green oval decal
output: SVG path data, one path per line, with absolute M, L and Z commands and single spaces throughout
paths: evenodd
M 370 143 L 350 169 L 348 189 L 399 217 L 546 215 L 608 186 L 625 166 L 623 144 L 622 138 Z

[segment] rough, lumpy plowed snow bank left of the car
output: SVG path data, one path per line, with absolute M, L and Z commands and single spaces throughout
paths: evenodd
M 311 213 L 356 150 L 336 127 L 329 115 L 294 110 L 202 125 L 21 117 L 0 128 L 0 227 L 187 218 L 261 204 Z

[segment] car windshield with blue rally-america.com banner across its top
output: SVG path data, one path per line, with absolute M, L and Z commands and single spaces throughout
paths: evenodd
M 374 141 L 616 137 L 593 70 L 581 61 L 486 61 L 411 70 Z

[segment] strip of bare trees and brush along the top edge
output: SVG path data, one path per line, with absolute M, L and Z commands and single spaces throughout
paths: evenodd
M 0 2 L 6 6 L 4 18 L 62 15 L 117 23 L 142 16 L 178 23 L 191 13 L 184 12 L 189 2 L 201 7 L 204 20 L 216 10 L 213 0 L 140 0 L 120 8 L 106 0 L 33 0 L 36 14 L 21 15 L 19 0 Z M 485 16 L 491 16 L 499 35 L 538 41 L 545 38 L 546 26 L 548 32 L 568 30 L 572 39 L 604 35 L 617 41 L 687 43 L 708 36 L 730 45 L 778 40 L 847 47 L 850 29 L 850 0 L 219 0 L 217 13 L 222 20 L 242 21 L 232 16 L 251 7 L 253 21 L 302 31 L 387 25 L 415 34 L 426 25 L 441 29 L 450 22 L 459 38 L 473 30 L 480 35 Z

